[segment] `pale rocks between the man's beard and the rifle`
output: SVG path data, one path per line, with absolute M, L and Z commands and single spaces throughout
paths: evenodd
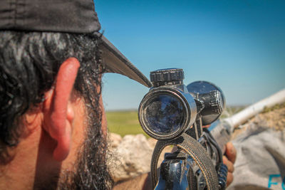
M 128 134 L 122 138 L 115 133 L 111 133 L 109 139 L 112 142 L 111 159 L 109 159 L 112 163 L 109 165 L 115 182 L 125 181 L 150 171 L 155 139 L 147 139 L 143 134 Z M 166 147 L 163 150 L 159 162 L 162 162 L 165 152 L 170 152 L 171 149 L 172 147 Z

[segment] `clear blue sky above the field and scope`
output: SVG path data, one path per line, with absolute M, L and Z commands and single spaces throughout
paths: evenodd
M 104 35 L 149 77 L 183 68 L 185 84 L 218 85 L 227 105 L 285 88 L 285 1 L 95 1 Z M 148 89 L 105 74 L 106 110 L 137 109 Z

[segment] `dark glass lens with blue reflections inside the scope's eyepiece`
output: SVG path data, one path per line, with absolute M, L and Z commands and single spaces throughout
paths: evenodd
M 172 134 L 184 122 L 184 111 L 180 100 L 171 95 L 157 95 L 147 101 L 145 121 L 155 134 Z

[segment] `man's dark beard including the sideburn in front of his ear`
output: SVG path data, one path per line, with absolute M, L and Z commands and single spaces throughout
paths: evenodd
M 96 51 L 99 52 L 99 51 Z M 97 64 L 94 64 L 94 63 Z M 84 63 L 84 61 L 83 61 Z M 112 189 L 113 179 L 107 167 L 107 137 L 102 131 L 103 105 L 100 105 L 101 68 L 100 56 L 81 65 L 75 84 L 86 105 L 86 139 L 78 152 L 73 171 L 63 171 L 57 189 Z

